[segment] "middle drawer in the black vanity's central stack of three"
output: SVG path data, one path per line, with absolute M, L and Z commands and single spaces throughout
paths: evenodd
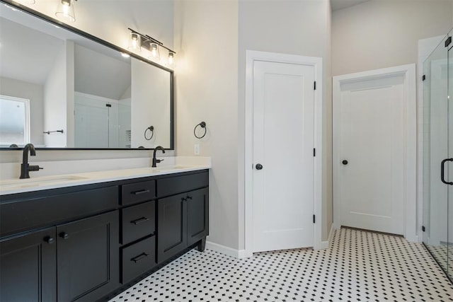
M 156 229 L 156 204 L 153 201 L 121 210 L 122 244 L 149 236 Z

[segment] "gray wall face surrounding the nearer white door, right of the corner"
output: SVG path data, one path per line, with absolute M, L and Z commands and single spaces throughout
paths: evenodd
M 331 199 L 331 7 L 328 0 L 239 1 L 239 221 L 243 229 L 246 50 L 323 58 L 323 240 L 332 223 Z M 243 248 L 243 232 L 240 233 Z

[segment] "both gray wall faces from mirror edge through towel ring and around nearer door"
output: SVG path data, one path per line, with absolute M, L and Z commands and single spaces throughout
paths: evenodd
M 324 137 L 330 133 L 330 5 L 321 1 L 176 1 L 177 154 L 212 156 L 209 240 L 244 243 L 244 94 L 246 50 L 322 57 Z M 207 122 L 205 139 L 193 127 Z M 323 238 L 331 227 L 331 144 L 323 153 Z M 215 223 L 213 223 L 215 221 Z

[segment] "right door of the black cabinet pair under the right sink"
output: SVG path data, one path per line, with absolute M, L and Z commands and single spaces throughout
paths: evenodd
M 208 188 L 187 193 L 188 245 L 209 234 L 209 190 Z

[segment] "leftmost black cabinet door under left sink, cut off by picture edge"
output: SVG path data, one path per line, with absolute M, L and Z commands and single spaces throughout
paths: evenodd
M 55 227 L 0 240 L 0 301 L 57 301 Z

